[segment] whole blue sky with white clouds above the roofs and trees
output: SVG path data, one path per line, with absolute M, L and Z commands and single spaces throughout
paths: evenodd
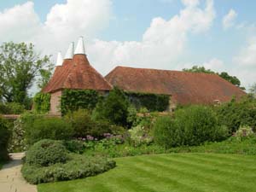
M 196 64 L 248 86 L 256 81 L 255 8 L 254 0 L 1 1 L 0 42 L 32 42 L 55 56 L 82 35 L 102 74 L 118 65 L 180 70 Z

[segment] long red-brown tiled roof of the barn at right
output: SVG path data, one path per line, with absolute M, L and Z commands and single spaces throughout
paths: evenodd
M 116 67 L 105 78 L 125 91 L 166 94 L 180 104 L 228 102 L 246 95 L 216 74 Z

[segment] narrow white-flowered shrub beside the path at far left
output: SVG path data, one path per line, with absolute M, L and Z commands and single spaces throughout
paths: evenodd
M 9 141 L 9 152 L 22 152 L 26 151 L 27 144 L 25 141 L 25 130 L 21 118 L 18 118 L 14 122 L 12 129 L 12 137 Z

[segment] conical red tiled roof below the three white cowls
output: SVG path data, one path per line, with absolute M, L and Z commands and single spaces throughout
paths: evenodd
M 73 60 L 65 60 L 60 69 L 57 67 L 43 92 L 62 89 L 111 90 L 112 86 L 90 63 L 86 55 L 74 55 Z

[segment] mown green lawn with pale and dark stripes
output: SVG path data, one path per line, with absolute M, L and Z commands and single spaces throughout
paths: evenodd
M 96 177 L 45 183 L 38 192 L 252 192 L 256 156 L 154 154 L 118 158 L 117 167 Z

